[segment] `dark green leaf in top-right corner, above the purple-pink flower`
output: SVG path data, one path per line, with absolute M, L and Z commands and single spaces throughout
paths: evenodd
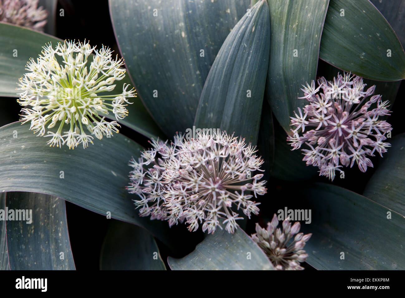
M 405 53 L 391 26 L 369 0 L 330 0 L 320 58 L 378 81 L 405 78 Z

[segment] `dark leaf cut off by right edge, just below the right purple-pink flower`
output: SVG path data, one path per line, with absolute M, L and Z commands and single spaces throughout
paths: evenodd
M 392 147 L 371 177 L 363 195 L 405 215 L 405 133 L 387 139 Z

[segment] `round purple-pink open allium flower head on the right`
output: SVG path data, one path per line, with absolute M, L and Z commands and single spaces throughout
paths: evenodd
M 315 82 L 301 90 L 304 96 L 300 99 L 309 101 L 298 114 L 291 118 L 293 136 L 288 136 L 292 150 L 301 148 L 306 144 L 309 149 L 303 149 L 303 161 L 307 165 L 320 168 L 320 176 L 327 176 L 333 180 L 335 171 L 343 165 L 352 167 L 358 165 L 361 172 L 373 163 L 367 156 L 375 156 L 378 152 L 387 152 L 390 143 L 384 143 L 385 136 L 391 131 L 391 125 L 379 120 L 379 116 L 390 115 L 389 102 L 382 101 L 380 95 L 373 95 L 375 86 L 364 91 L 362 77 L 351 76 L 345 73 L 326 81 L 324 77 L 318 79 L 318 88 Z M 319 90 L 322 89 L 322 92 Z M 319 93 L 318 93 L 319 92 Z M 364 103 L 365 102 L 365 103 Z M 364 104 L 363 104 L 364 103 Z M 375 105 L 373 105 L 375 104 Z M 371 109 L 371 106 L 375 108 Z M 303 135 L 298 132 L 300 129 Z

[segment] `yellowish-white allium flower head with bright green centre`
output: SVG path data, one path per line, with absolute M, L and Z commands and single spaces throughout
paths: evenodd
M 123 119 L 128 114 L 128 98 L 136 97 L 134 88 L 128 90 L 126 84 L 122 93 L 106 93 L 114 90 L 114 81 L 124 78 L 124 62 L 113 59 L 111 50 L 104 46 L 87 61 L 94 49 L 86 42 L 65 41 L 55 49 L 49 43 L 36 61 L 30 59 L 26 66 L 30 72 L 17 83 L 17 90 L 23 91 L 18 94 L 19 104 L 32 107 L 21 109 L 23 123 L 31 121 L 34 133 L 51 137 L 49 146 L 66 144 L 70 149 L 82 144 L 86 148 L 93 137 L 84 128 L 98 139 L 118 133 L 119 124 L 106 121 L 104 115 L 112 112 L 116 119 Z M 45 135 L 45 126 L 52 129 L 57 123 L 58 129 Z

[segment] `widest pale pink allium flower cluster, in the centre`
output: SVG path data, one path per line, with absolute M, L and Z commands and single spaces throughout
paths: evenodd
M 263 172 L 263 161 L 254 155 L 256 148 L 244 141 L 215 131 L 190 140 L 177 134 L 170 145 L 152 140 L 153 149 L 129 163 L 134 169 L 127 189 L 141 198 L 134 200 L 141 207 L 140 215 L 168 220 L 169 225 L 185 220 L 193 232 L 203 221 L 208 233 L 224 224 L 233 233 L 242 218 L 232 205 L 250 218 L 258 214 L 260 204 L 251 198 L 267 191 L 266 181 L 259 181 L 263 174 L 250 177 L 250 172 Z

